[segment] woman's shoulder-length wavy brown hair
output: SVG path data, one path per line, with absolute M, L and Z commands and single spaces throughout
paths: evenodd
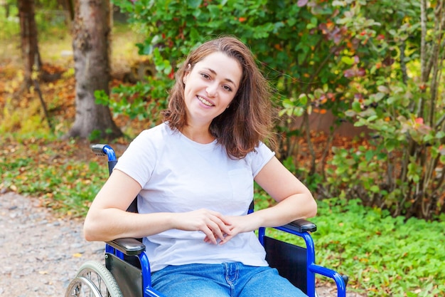
M 271 90 L 255 63 L 252 52 L 235 37 L 224 36 L 203 43 L 192 51 L 176 72 L 176 83 L 170 91 L 163 120 L 173 130 L 187 125 L 183 77 L 196 63 L 210 53 L 225 53 L 240 63 L 242 78 L 235 98 L 222 114 L 210 123 L 210 133 L 225 146 L 227 154 L 241 159 L 254 151 L 260 141 L 274 145 L 272 137 Z M 188 66 L 190 65 L 190 66 Z

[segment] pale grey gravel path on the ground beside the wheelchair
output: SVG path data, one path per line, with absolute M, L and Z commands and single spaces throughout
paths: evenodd
M 104 243 L 85 241 L 81 220 L 56 219 L 31 197 L 0 194 L 0 230 L 0 296 L 61 297 L 85 261 L 104 263 Z M 336 296 L 336 288 L 317 293 Z

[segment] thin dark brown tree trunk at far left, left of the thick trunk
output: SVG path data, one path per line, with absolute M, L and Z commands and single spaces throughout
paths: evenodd
M 33 66 L 39 70 L 42 65 L 38 52 L 34 0 L 18 0 L 18 16 L 21 31 L 21 53 L 25 67 L 23 88 L 29 89 L 32 85 Z

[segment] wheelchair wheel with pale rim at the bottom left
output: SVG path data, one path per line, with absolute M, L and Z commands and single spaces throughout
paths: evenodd
M 123 297 L 117 282 L 108 269 L 96 261 L 80 266 L 77 276 L 70 282 L 65 297 Z

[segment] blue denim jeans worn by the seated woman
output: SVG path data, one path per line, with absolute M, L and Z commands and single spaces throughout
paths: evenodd
M 151 275 L 166 297 L 302 297 L 306 296 L 277 269 L 239 262 L 167 266 Z

